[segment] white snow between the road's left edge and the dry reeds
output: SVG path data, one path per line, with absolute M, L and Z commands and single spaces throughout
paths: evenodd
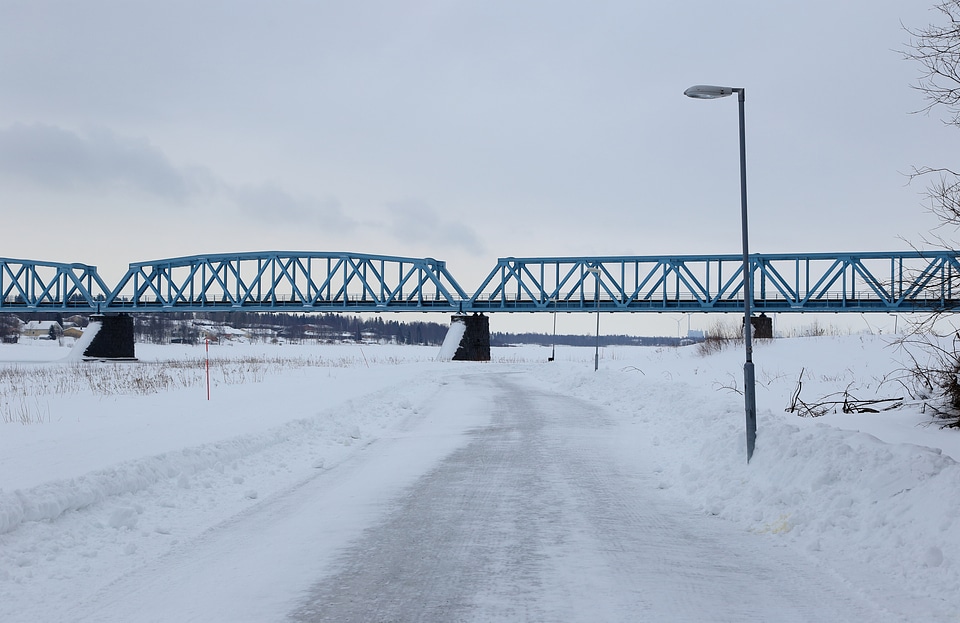
M 167 360 L 159 350 L 140 354 Z M 218 356 L 226 350 L 250 354 L 231 348 Z M 277 365 L 261 382 L 217 385 L 211 401 L 194 388 L 51 394 L 53 417 L 0 423 L 0 620 L 73 620 L 103 586 L 322 480 L 384 436 L 409 434 L 405 423 L 423 417 L 421 406 L 435 402 L 445 375 L 462 373 L 429 361 L 435 349 L 370 350 L 377 352 L 325 348 L 332 366 Z M 70 367 L 30 365 L 54 373 Z M 149 373 L 157 365 L 122 367 Z M 104 373 L 113 367 L 102 366 Z M 431 448 L 448 442 L 423 441 Z

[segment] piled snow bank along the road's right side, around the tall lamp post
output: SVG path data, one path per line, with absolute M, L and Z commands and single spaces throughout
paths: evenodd
M 910 408 L 847 415 L 839 421 L 862 430 L 845 430 L 831 416 L 784 412 L 805 366 L 816 370 L 811 396 L 843 390 L 853 370 L 855 391 L 889 393 L 867 373 L 871 366 L 889 371 L 897 365 L 885 344 L 831 338 L 763 345 L 755 357 L 758 436 L 749 465 L 743 398 L 733 391 L 742 382 L 741 356 L 651 350 L 646 360 L 607 361 L 608 369 L 595 378 L 569 367 L 537 376 L 557 391 L 617 412 L 629 440 L 626 451 L 653 459 L 664 495 L 784 539 L 827 561 L 841 577 L 862 577 L 868 569 L 937 602 L 955 594 L 960 465 L 941 448 L 901 441 L 916 435 L 912 429 L 924 416 Z M 892 418 L 899 428 L 891 426 Z M 874 426 L 884 440 L 862 432 Z M 931 443 L 956 447 L 956 431 L 934 424 L 925 432 Z

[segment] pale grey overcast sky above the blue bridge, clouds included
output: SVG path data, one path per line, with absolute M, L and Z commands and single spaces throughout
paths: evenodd
M 900 250 L 933 0 L 0 0 L 0 256 Z

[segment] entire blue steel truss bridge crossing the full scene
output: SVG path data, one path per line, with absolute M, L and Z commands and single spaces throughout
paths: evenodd
M 933 312 L 960 305 L 960 252 L 754 254 L 753 308 Z M 213 254 L 96 267 L 0 258 L 0 312 L 729 312 L 743 256 L 501 258 L 464 290 L 431 258 L 356 253 Z

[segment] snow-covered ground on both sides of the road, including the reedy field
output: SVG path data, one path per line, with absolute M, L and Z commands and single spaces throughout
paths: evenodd
M 657 495 L 813 561 L 891 620 L 956 621 L 960 432 L 940 430 L 909 401 L 870 414 L 784 411 L 801 369 L 807 401 L 843 390 L 903 396 L 884 382 L 901 366 L 887 341 L 757 344 L 759 432 L 749 465 L 738 348 L 708 356 L 696 347 L 606 348 L 594 372 L 592 349 L 564 347 L 552 363 L 550 349 L 522 346 L 496 348 L 481 364 L 438 361 L 438 349 L 410 346 L 219 346 L 210 348 L 208 400 L 203 346 L 138 345 L 140 363 L 108 364 L 58 362 L 69 351 L 55 343 L 4 345 L 0 621 L 100 620 L 87 605 L 118 599 L 124 578 L 318 473 L 377 452 L 379 440 L 420 435 L 422 443 L 404 446 L 417 450 L 401 457 L 402 469 L 370 476 L 370 487 L 395 492 L 480 424 L 432 411 L 407 424 L 424 419 L 440 388 L 465 371 L 507 371 L 596 405 L 617 423 L 606 434 L 633 446 L 635 469 L 652 472 Z M 463 400 L 482 400 L 462 391 Z M 345 532 L 377 512 L 342 508 L 327 519 Z M 250 538 L 238 548 L 256 559 Z M 236 578 L 258 571 L 238 565 Z M 259 569 L 269 598 L 256 608 L 224 606 L 242 609 L 244 620 L 282 620 L 302 572 L 296 564 Z M 229 611 L 220 620 L 235 620 Z M 125 620 L 157 618 L 145 610 Z

